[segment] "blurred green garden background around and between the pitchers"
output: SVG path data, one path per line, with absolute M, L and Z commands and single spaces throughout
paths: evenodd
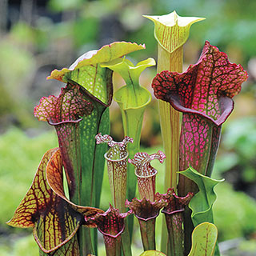
M 216 188 L 214 214 L 223 255 L 256 255 L 256 1 L 1 0 L 0 256 L 38 255 L 31 230 L 14 229 L 5 222 L 26 194 L 42 154 L 58 146 L 53 128 L 38 122 L 33 114 L 40 98 L 58 95 L 64 86 L 46 81 L 50 71 L 70 66 L 88 50 L 122 40 L 146 44 L 146 50 L 129 55 L 134 63 L 157 59 L 154 25 L 142 14 L 173 10 L 181 16 L 206 18 L 191 27 L 184 70 L 197 62 L 208 40 L 226 52 L 230 62 L 240 63 L 248 71 L 249 79 L 234 98 L 234 112 L 222 129 L 214 178 L 226 178 L 226 182 Z M 156 69 L 150 68 L 141 77 L 142 86 L 151 93 L 155 74 Z M 114 74 L 114 90 L 123 84 Z M 121 114 L 114 102 L 110 115 L 111 135 L 122 140 Z M 162 148 L 155 100 L 146 110 L 142 146 L 148 153 Z M 163 166 L 157 167 L 158 191 L 164 192 Z M 107 208 L 110 190 L 106 177 L 103 186 L 102 208 Z M 138 229 L 136 232 L 134 255 L 142 251 Z

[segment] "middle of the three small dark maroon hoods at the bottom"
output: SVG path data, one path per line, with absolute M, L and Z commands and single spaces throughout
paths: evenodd
M 159 210 L 165 206 L 167 206 L 167 202 L 162 198 L 159 198 L 154 202 L 151 202 L 146 198 L 143 198 L 142 200 L 134 198 L 131 202 L 126 200 L 126 207 L 129 207 L 130 210 L 132 210 L 136 218 L 142 219 L 144 221 L 157 218 Z

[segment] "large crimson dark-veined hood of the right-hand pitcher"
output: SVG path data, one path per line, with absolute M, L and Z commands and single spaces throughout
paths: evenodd
M 171 103 L 176 94 L 183 107 L 216 120 L 221 114 L 218 98 L 233 98 L 246 78 L 241 65 L 230 63 L 225 53 L 206 41 L 195 65 L 190 65 L 182 74 L 162 71 L 154 78 L 152 87 L 156 98 Z

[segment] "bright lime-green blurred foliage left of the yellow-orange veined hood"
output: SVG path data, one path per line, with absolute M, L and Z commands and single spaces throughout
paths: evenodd
M 30 187 L 42 155 L 54 146 L 58 146 L 58 143 L 53 132 L 31 138 L 13 128 L 0 137 L 1 223 L 12 217 L 22 196 Z

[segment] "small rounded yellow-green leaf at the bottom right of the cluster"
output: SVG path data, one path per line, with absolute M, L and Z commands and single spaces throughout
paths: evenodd
M 209 222 L 203 222 L 195 227 L 192 233 L 192 248 L 188 256 L 211 256 L 217 242 L 217 227 Z

